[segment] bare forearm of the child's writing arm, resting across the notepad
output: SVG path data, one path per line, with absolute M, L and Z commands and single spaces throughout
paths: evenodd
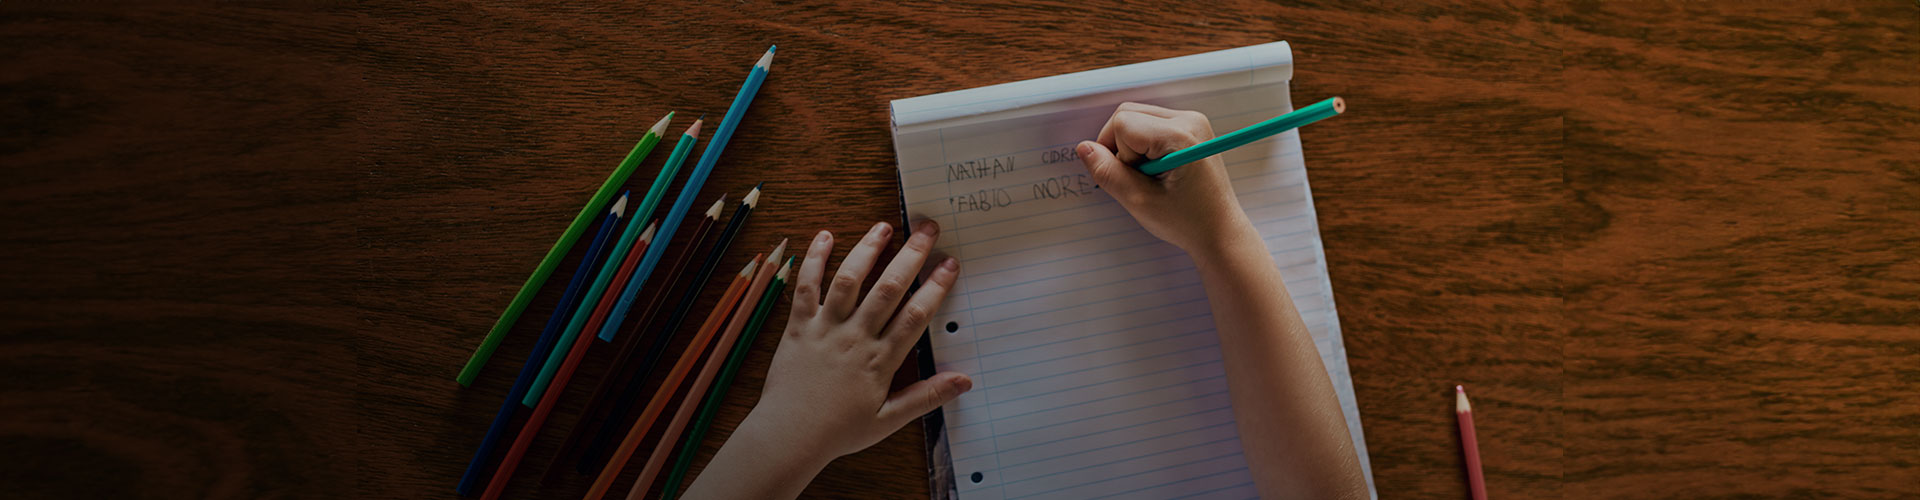
M 1254 483 L 1265 498 L 1365 498 L 1365 477 L 1332 381 L 1252 225 L 1194 248 L 1213 306 L 1227 387 Z

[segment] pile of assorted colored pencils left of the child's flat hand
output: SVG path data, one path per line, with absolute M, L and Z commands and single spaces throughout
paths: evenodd
M 693 304 L 708 288 L 708 281 L 728 248 L 747 225 L 747 217 L 753 215 L 755 206 L 760 204 L 762 187 L 755 187 L 739 200 L 726 225 L 720 225 L 720 212 L 726 208 L 726 194 L 720 194 L 695 221 L 689 244 L 672 256 L 666 271 L 660 273 L 660 283 L 655 287 L 647 285 L 660 262 L 666 260 L 674 233 L 693 210 L 701 187 L 718 163 L 720 152 L 726 150 L 728 140 L 737 131 L 747 106 L 758 94 L 760 83 L 772 71 L 772 63 L 774 48 L 768 48 L 749 71 L 739 94 L 735 94 L 726 117 L 720 119 L 720 127 L 707 140 L 707 150 L 701 152 L 699 162 L 687 173 L 680 196 L 674 198 L 664 217 L 655 217 L 655 210 L 691 154 L 701 135 L 703 119 L 693 121 L 680 135 L 680 142 L 674 144 L 674 152 L 660 165 L 643 198 L 636 202 L 630 198 L 632 192 L 622 192 L 614 198 L 614 192 L 626 185 L 628 177 L 653 152 L 653 146 L 660 142 L 660 135 L 666 133 L 674 113 L 660 117 L 639 138 L 639 144 L 628 152 L 626 160 L 614 167 L 612 175 L 588 200 L 588 206 L 580 210 L 580 215 L 561 233 L 561 240 L 547 250 L 547 256 L 534 267 L 534 275 L 520 285 L 520 292 L 513 296 L 499 321 L 493 323 L 480 348 L 474 350 L 472 358 L 461 369 L 457 381 L 463 387 L 472 385 L 480 375 L 480 367 L 493 356 L 505 333 L 520 319 L 520 313 L 526 312 L 547 277 L 561 267 L 574 242 L 588 233 L 593 217 L 601 212 L 607 213 L 593 231 L 588 250 L 580 256 L 580 265 L 566 283 L 561 304 L 555 306 L 545 329 L 534 342 L 534 352 L 520 365 L 520 373 L 515 377 L 513 388 L 507 390 L 507 398 L 493 415 L 493 423 L 480 437 L 478 450 L 474 450 L 472 462 L 467 465 L 467 473 L 457 487 L 461 496 L 474 494 L 474 488 L 482 481 L 486 488 L 480 490 L 480 498 L 492 500 L 505 492 L 513 471 L 520 465 L 541 425 L 551 417 L 561 394 L 566 392 L 566 383 L 580 369 L 582 358 L 593 344 L 589 338 L 595 337 L 607 342 L 618 340 L 614 344 L 612 367 L 601 377 L 578 425 L 566 433 L 566 442 L 553 462 L 549 462 L 545 479 L 563 477 L 566 469 L 578 473 L 597 471 L 599 475 L 588 498 L 601 498 L 628 465 L 634 452 L 637 452 L 639 440 L 660 423 L 666 431 L 659 444 L 653 446 L 641 479 L 628 490 L 628 498 L 647 494 L 674 456 L 678 460 L 672 463 L 672 473 L 666 475 L 662 487 L 666 488 L 664 496 L 678 494 L 678 487 L 685 477 L 693 452 L 699 450 L 714 408 L 726 396 L 733 373 L 739 369 L 741 360 L 745 360 L 745 354 L 753 346 L 753 338 L 766 323 L 768 312 L 772 312 L 785 288 L 787 273 L 791 271 L 791 258 L 785 258 L 787 242 L 781 240 L 780 246 L 774 246 L 766 254 L 756 254 L 747 262 L 724 285 L 726 294 L 707 313 L 685 352 L 678 354 L 672 369 L 666 371 L 666 381 L 653 388 L 651 396 L 645 394 L 643 385 L 666 358 L 674 331 L 693 313 Z M 705 256 L 693 267 L 697 252 Z M 639 300 L 643 290 L 647 290 L 647 300 Z M 643 306 L 634 315 L 634 321 L 628 321 L 628 312 L 636 300 Z M 668 304 L 672 304 L 670 310 L 666 308 Z M 626 325 L 624 337 L 616 335 L 622 331 L 622 325 Z M 645 356 L 639 356 L 639 338 L 645 333 L 651 333 L 651 342 L 645 342 Z M 701 363 L 703 360 L 705 363 Z M 695 365 L 699 365 L 697 375 L 693 375 Z M 687 375 L 693 375 L 691 381 Z M 678 400 L 678 410 L 662 423 L 660 415 L 666 413 L 668 406 L 682 392 L 685 396 Z M 630 417 L 628 413 L 632 413 L 634 404 L 643 396 L 647 400 L 645 410 L 637 417 Z M 513 433 L 511 429 L 520 406 L 532 408 L 532 413 L 518 425 L 518 433 Z M 691 431 L 687 431 L 689 425 Z M 624 438 L 614 442 L 614 435 L 622 431 Z M 684 433 L 691 435 L 691 438 L 684 446 L 676 446 L 682 442 Z M 499 444 L 509 437 L 511 444 L 503 454 L 497 454 Z

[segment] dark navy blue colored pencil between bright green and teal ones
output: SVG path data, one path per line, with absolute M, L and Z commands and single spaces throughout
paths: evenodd
M 534 385 L 534 375 L 540 373 L 540 360 L 545 352 L 553 348 L 553 342 L 561 337 L 561 327 L 566 325 L 566 312 L 572 310 L 574 300 L 580 298 L 580 288 L 586 285 L 588 277 L 593 275 L 593 265 L 607 246 L 607 238 L 612 231 L 620 227 L 620 213 L 607 213 L 599 229 L 593 233 L 593 242 L 588 244 L 588 252 L 580 258 L 574 267 L 574 277 L 566 283 L 566 292 L 561 294 L 561 304 L 553 306 L 553 315 L 547 317 L 547 325 L 540 331 L 540 340 L 534 342 L 534 350 L 526 354 L 526 363 L 520 365 L 520 375 L 513 379 L 513 388 L 507 390 L 507 398 L 501 402 L 499 412 L 493 413 L 493 423 L 488 423 L 486 435 L 480 437 L 480 448 L 474 450 L 474 458 L 467 462 L 467 471 L 461 473 L 461 483 L 453 488 L 461 496 L 472 494 L 472 488 L 480 485 L 480 477 L 486 473 L 486 462 L 493 456 L 493 446 L 499 446 L 499 437 L 507 433 L 509 423 L 513 423 L 513 413 L 520 408 L 520 396 L 526 394 L 526 387 Z

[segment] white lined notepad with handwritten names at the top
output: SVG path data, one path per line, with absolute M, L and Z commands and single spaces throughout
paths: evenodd
M 933 323 L 937 496 L 1252 498 L 1219 340 L 1194 263 L 1087 177 L 1073 152 L 1119 102 L 1198 110 L 1235 131 L 1292 110 L 1286 42 L 893 102 L 912 221 L 962 262 Z M 1298 133 L 1225 154 L 1373 471 Z

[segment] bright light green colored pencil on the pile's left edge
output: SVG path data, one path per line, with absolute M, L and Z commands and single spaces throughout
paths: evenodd
M 580 215 L 574 215 L 574 223 L 566 225 L 566 233 L 561 233 L 561 240 L 553 242 L 547 256 L 540 260 L 540 267 L 534 267 L 534 275 L 526 277 L 526 285 L 520 285 L 520 292 L 513 296 L 513 302 L 507 302 L 507 310 L 499 313 L 497 321 L 493 321 L 493 329 L 486 333 L 486 338 L 480 338 L 480 348 L 474 350 L 474 356 L 467 358 L 467 367 L 461 367 L 461 375 L 455 377 L 461 387 L 468 387 L 474 383 L 474 377 L 480 377 L 480 367 L 486 365 L 488 358 L 493 358 L 493 348 L 499 348 L 499 340 L 507 338 L 507 331 L 513 329 L 513 323 L 520 319 L 522 312 L 526 312 L 526 304 L 534 302 L 534 294 L 547 283 L 553 269 L 561 267 L 561 260 L 566 256 L 566 250 L 574 248 L 574 240 L 580 240 L 580 235 L 588 231 L 588 223 L 593 221 L 593 215 L 599 215 L 599 212 L 607 208 L 607 200 L 612 200 L 614 190 L 620 190 L 620 187 L 626 185 L 626 177 L 634 175 L 634 169 L 639 167 L 639 162 L 645 160 L 649 152 L 653 152 L 655 144 L 660 144 L 660 135 L 666 133 L 666 123 L 672 121 L 674 113 L 668 112 L 666 117 L 653 123 L 653 129 L 639 137 L 639 144 L 634 144 L 634 150 L 626 154 L 626 160 L 620 160 L 620 167 L 614 167 L 612 175 L 607 175 L 607 183 L 601 183 L 601 188 L 593 192 L 593 198 L 580 210 Z

